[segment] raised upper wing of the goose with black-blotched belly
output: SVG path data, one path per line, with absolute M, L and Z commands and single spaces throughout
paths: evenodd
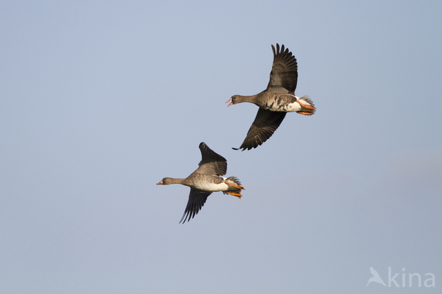
M 271 49 L 273 50 L 273 66 L 267 92 L 294 94 L 298 82 L 298 63 L 296 63 L 295 56 L 289 52 L 289 49 L 284 49 L 284 45 L 281 46 L 281 50 L 279 44 L 276 44 L 276 51 L 273 45 Z

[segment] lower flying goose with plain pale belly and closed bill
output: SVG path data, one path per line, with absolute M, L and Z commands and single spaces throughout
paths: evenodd
M 241 190 L 244 190 L 238 178 L 234 176 L 222 177 L 227 173 L 227 160 L 224 157 L 215 153 L 204 142 L 200 143 L 199 147 L 202 160 L 198 164 L 198 169 L 193 171 L 190 176 L 187 178 L 163 178 L 157 182 L 157 185 L 181 184 L 191 187 L 189 201 L 180 220 L 180 223 L 183 224 L 186 220 L 189 222 L 200 211 L 212 192 L 222 191 L 224 194 L 227 193 L 241 199 Z

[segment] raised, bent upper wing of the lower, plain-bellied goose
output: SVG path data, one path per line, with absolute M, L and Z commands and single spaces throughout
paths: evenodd
M 215 153 L 206 143 L 200 143 L 202 160 L 197 171 L 200 174 L 224 176 L 227 173 L 227 160 Z

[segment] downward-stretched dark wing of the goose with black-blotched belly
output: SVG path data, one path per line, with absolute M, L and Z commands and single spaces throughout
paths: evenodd
M 245 149 L 250 150 L 265 143 L 273 135 L 273 132 L 278 129 L 285 118 L 285 114 L 286 112 L 271 112 L 270 110 L 260 108 L 239 149 L 242 149 L 242 151 Z M 238 150 L 237 148 L 233 149 Z

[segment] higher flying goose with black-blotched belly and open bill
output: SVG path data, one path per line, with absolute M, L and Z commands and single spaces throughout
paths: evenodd
M 316 112 L 315 105 L 309 96 L 295 96 L 298 81 L 298 63 L 296 58 L 285 49 L 284 45 L 273 50 L 273 65 L 270 72 L 270 81 L 267 89 L 252 96 L 233 95 L 229 105 L 249 102 L 258 105 L 258 114 L 247 132 L 247 136 L 239 148 L 235 150 L 250 150 L 256 148 L 273 135 L 278 129 L 287 112 L 297 112 L 311 116 Z

